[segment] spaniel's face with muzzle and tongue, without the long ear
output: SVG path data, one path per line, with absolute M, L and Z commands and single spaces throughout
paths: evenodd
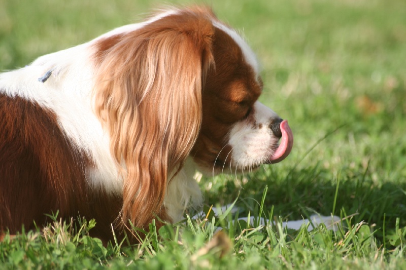
M 292 148 L 292 132 L 286 121 L 257 101 L 262 81 L 254 53 L 234 30 L 219 22 L 214 27 L 214 67 L 202 91 L 194 161 L 214 174 L 282 161 Z

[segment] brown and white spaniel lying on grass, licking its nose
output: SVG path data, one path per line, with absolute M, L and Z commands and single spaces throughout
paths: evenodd
M 255 54 L 209 8 L 173 8 L 0 74 L 0 232 L 83 216 L 104 241 L 178 222 L 193 175 L 284 160 Z M 121 232 L 121 233 L 120 233 Z

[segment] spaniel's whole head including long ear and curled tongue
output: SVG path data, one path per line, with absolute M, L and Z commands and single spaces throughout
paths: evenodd
M 135 225 L 162 210 L 168 178 L 188 156 L 218 173 L 289 155 L 287 122 L 257 101 L 253 52 L 210 10 L 164 12 L 102 36 L 95 50 L 95 110 L 123 168 L 124 219 Z

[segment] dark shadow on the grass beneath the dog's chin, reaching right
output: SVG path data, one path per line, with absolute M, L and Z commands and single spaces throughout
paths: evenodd
M 255 214 L 266 186 L 264 212 L 269 213 L 274 208 L 274 216 L 296 220 L 315 213 L 330 215 L 334 209 L 332 214 L 337 216 L 341 212 L 354 215 L 351 224 L 367 222 L 377 229 L 377 237 L 383 236 L 384 227 L 387 232 L 395 230 L 396 226 L 406 227 L 406 182 L 377 183 L 368 170 L 362 168 L 345 169 L 338 176 L 318 165 L 292 169 L 284 177 L 273 168 L 265 173 L 234 176 L 225 179 L 218 189 L 212 188 L 208 192 L 208 203 L 224 205 L 239 197 L 236 205 L 242 208 L 240 216 L 248 211 Z M 215 201 L 216 198 L 219 201 Z

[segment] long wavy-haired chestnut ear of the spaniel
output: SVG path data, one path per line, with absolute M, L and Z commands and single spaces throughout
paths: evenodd
M 201 124 L 201 91 L 214 64 L 214 27 L 179 11 L 97 45 L 95 110 L 110 132 L 124 178 L 122 219 L 147 227 L 183 165 Z M 96 62 L 97 62 L 96 61 Z

